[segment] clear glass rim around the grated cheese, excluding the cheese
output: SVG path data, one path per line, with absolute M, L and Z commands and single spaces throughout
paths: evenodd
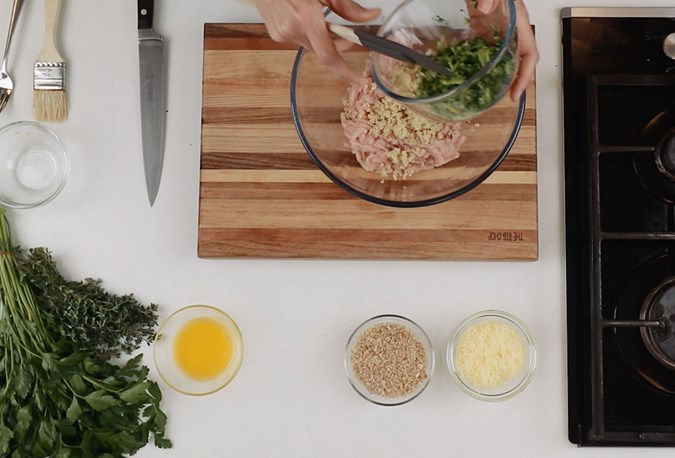
M 516 331 L 521 337 L 525 347 L 523 369 L 519 374 L 507 380 L 505 383 L 492 387 L 481 388 L 473 386 L 469 381 L 462 378 L 461 371 L 457 368 L 456 354 L 457 345 L 465 331 L 473 326 L 486 321 L 493 321 L 507 325 Z M 517 395 L 527 387 L 532 380 L 537 367 L 537 345 L 525 324 L 507 312 L 499 310 L 485 310 L 471 315 L 464 320 L 455 330 L 448 343 L 446 363 L 450 375 L 457 385 L 466 393 L 482 401 L 503 401 Z

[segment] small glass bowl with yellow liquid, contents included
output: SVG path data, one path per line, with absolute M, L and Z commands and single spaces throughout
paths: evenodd
M 153 350 L 162 380 L 193 396 L 224 388 L 239 372 L 244 356 L 237 324 L 209 305 L 191 305 L 171 314 L 157 331 Z

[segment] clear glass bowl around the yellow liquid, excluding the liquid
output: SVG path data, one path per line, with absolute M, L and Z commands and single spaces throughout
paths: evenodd
M 197 318 L 211 318 L 221 324 L 232 341 L 232 357 L 227 368 L 216 377 L 197 380 L 188 377 L 174 360 L 174 342 L 184 325 Z M 162 380 L 183 394 L 203 396 L 215 393 L 234 379 L 244 356 L 244 342 L 239 327 L 225 312 L 209 305 L 190 305 L 172 313 L 159 327 L 153 342 L 155 366 Z

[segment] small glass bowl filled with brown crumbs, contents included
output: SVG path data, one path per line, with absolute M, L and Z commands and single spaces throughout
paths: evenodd
M 379 315 L 351 334 L 344 363 L 349 383 L 361 397 L 397 406 L 424 391 L 435 360 L 431 341 L 419 325 L 403 316 Z

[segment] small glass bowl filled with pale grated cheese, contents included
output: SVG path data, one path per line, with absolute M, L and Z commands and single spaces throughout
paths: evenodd
M 537 346 L 525 324 L 510 313 L 478 312 L 455 330 L 446 352 L 450 375 L 469 395 L 502 401 L 532 380 Z

